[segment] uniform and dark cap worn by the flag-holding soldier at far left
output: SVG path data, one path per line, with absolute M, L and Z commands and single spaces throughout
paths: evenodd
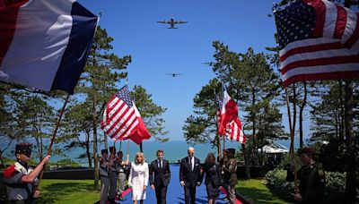
M 18 144 L 15 154 L 24 154 L 31 157 L 31 144 Z M 33 189 L 38 183 L 35 179 L 32 183 L 22 183 L 22 177 L 30 174 L 31 167 L 26 162 L 20 161 L 4 170 L 4 183 L 6 185 L 7 198 L 12 203 L 33 203 Z

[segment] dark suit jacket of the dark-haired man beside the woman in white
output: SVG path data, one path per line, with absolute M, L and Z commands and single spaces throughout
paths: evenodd
M 153 177 L 154 174 L 154 177 Z M 154 186 L 168 186 L 171 180 L 170 163 L 168 160 L 162 160 L 162 168 L 158 167 L 158 159 L 151 162 L 150 183 Z

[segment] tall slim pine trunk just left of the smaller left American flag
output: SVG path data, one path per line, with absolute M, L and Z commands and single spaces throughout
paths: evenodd
M 96 93 L 93 96 L 92 116 L 93 116 L 92 129 L 93 129 L 93 161 L 94 161 L 93 166 L 95 167 L 94 175 L 93 175 L 93 179 L 94 179 L 93 189 L 95 191 L 99 191 L 100 190 L 100 185 L 99 185 L 100 169 L 99 169 L 99 157 L 97 157 Z

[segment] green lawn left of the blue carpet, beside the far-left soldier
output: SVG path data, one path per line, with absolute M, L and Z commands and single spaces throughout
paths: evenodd
M 94 203 L 100 191 L 93 191 L 93 180 L 45 179 L 40 183 L 38 203 Z

